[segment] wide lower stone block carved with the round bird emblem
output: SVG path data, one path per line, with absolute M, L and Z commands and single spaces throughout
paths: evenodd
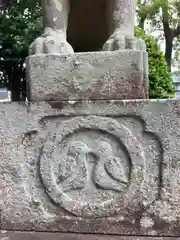
M 180 235 L 179 109 L 1 104 L 1 229 Z

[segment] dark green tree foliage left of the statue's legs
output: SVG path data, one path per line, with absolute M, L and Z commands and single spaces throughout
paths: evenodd
M 42 28 L 41 8 L 38 1 L 16 0 L 0 12 L 0 87 L 7 87 L 13 100 L 20 100 L 26 91 L 28 46 Z

